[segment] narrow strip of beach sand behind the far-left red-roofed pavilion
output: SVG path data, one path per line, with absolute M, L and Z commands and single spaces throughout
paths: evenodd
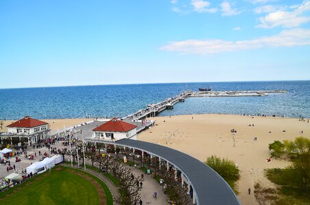
M 92 119 L 52 119 L 52 120 L 42 120 L 44 122 L 49 123 L 49 126 L 51 128 L 52 132 L 57 131 L 57 128 L 59 128 L 60 130 L 64 130 L 64 125 L 66 126 L 66 128 L 70 127 L 70 126 L 75 126 L 77 124 L 81 124 L 83 122 L 89 122 Z M 9 124 L 11 124 L 12 122 L 16 122 L 16 120 L 0 120 L 0 122 L 3 122 L 3 126 L 2 128 L 0 127 L 0 132 L 6 132 L 8 131 L 8 128 L 6 126 L 8 126 Z

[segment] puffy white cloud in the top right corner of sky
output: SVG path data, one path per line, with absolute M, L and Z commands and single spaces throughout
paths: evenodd
M 310 10 L 310 1 L 303 1 L 300 5 L 295 5 L 292 8 L 294 10 L 288 12 L 285 10 L 279 10 L 270 12 L 266 16 L 260 17 L 260 24 L 257 27 L 269 29 L 273 27 L 285 27 L 293 28 L 299 27 L 303 23 L 310 21 L 309 16 L 303 16 L 304 12 Z

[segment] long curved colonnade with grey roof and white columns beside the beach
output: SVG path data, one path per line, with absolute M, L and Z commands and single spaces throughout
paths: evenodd
M 220 175 L 188 154 L 155 143 L 132 139 L 103 141 L 89 138 L 86 141 L 133 148 L 141 150 L 142 155 L 143 152 L 147 152 L 151 157 L 157 156 L 160 163 L 164 164 L 166 161 L 167 169 L 172 165 L 181 172 L 182 184 L 187 183 L 189 191 L 193 193 L 193 204 L 240 204 L 229 184 Z

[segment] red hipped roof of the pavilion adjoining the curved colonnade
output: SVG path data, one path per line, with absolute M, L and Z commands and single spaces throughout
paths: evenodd
M 101 126 L 94 128 L 92 131 L 125 133 L 128 131 L 131 131 L 133 128 L 136 128 L 136 127 L 137 126 L 133 124 L 122 122 L 120 120 L 110 120 L 108 122 L 105 122 L 105 124 L 102 124 Z

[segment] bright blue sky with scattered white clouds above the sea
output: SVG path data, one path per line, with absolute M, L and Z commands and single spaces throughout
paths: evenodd
M 310 0 L 0 1 L 0 87 L 310 79 Z

